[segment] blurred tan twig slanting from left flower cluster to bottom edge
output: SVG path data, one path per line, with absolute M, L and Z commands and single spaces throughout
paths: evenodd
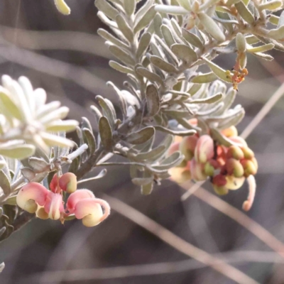
M 187 256 L 195 258 L 195 260 L 204 263 L 206 266 L 210 266 L 219 273 L 222 273 L 227 278 L 236 281 L 236 283 L 241 284 L 256 284 L 256 280 L 253 280 L 248 275 L 239 271 L 238 269 L 230 266 L 219 258 L 211 256 L 209 253 L 198 249 L 196 246 L 187 243 L 187 241 L 181 239 L 179 236 L 173 234 L 168 229 L 165 229 L 163 226 L 148 218 L 146 215 L 138 212 L 138 210 L 133 207 L 117 200 L 114 197 L 109 197 L 104 195 L 104 199 L 109 202 L 111 208 L 114 209 L 119 214 L 130 219 L 132 222 L 142 226 L 147 231 L 150 231 L 155 236 L 158 236 L 159 239 L 165 241 L 165 243 L 172 246 L 174 249 L 184 253 Z

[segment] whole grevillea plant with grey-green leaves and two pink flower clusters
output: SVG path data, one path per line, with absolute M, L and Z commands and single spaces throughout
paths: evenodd
M 55 0 L 55 6 L 70 13 L 63 0 Z M 284 50 L 284 12 L 274 14 L 283 1 L 96 0 L 95 6 L 109 27 L 98 33 L 118 60 L 109 65 L 128 77 L 125 89 L 107 82 L 119 111 L 98 95 L 91 109 L 99 133 L 93 133 L 85 118 L 80 124 L 62 120 L 68 108 L 46 104 L 45 91 L 33 89 L 26 77 L 2 77 L 1 240 L 33 217 L 62 223 L 77 218 L 85 226 L 106 219 L 109 204 L 89 190 L 77 190 L 77 180 L 97 165 L 113 165 L 107 163 L 113 155 L 126 159 L 143 195 L 167 178 L 209 180 L 219 195 L 248 180 L 243 208 L 249 210 L 258 165 L 235 127 L 244 108 L 232 106 L 249 74 L 247 54 L 273 60 L 268 50 Z M 228 53 L 236 57 L 231 70 L 213 62 Z M 74 130 L 80 145 L 65 137 Z

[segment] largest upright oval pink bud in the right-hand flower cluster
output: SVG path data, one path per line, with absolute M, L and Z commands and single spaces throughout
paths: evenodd
M 214 157 L 214 141 L 209 135 L 202 135 L 195 147 L 195 160 L 198 163 L 206 163 Z

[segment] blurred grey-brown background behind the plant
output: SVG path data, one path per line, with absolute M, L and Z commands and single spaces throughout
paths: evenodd
M 122 87 L 126 77 L 108 65 L 111 54 L 97 36 L 103 25 L 94 1 L 67 0 L 67 4 L 72 9 L 70 16 L 58 13 L 53 0 L 0 1 L 0 74 L 15 79 L 25 75 L 34 87 L 48 92 L 49 101 L 60 100 L 69 107 L 70 119 L 80 121 L 85 116 L 96 131 L 89 106 L 97 94 L 116 102 L 105 83 L 111 80 Z M 275 50 L 271 55 L 273 62 L 249 57 L 249 76 L 239 86 L 236 99 L 246 109 L 240 133 L 284 82 L 284 55 Z M 222 55 L 217 60 L 224 69 L 231 69 L 235 58 Z M 284 99 L 280 99 L 247 139 L 260 168 L 256 200 L 246 216 L 284 242 L 283 109 Z M 267 245 L 266 232 L 256 230 L 258 237 L 251 234 L 248 229 L 256 229 L 255 223 L 237 213 L 241 225 L 222 214 L 219 209 L 224 204 L 214 203 L 211 195 L 203 192 L 182 202 L 185 189 L 165 180 L 150 196 L 143 196 L 131 183 L 126 166 L 109 168 L 106 177 L 82 187 L 98 197 L 106 193 L 131 205 L 190 244 L 224 257 L 258 283 L 284 283 L 283 258 Z M 212 192 L 207 185 L 204 188 Z M 244 186 L 222 200 L 241 209 L 246 195 Z M 120 205 L 117 211 L 131 214 Z M 156 233 L 163 234 L 163 230 Z M 278 245 L 269 235 L 268 239 Z M 6 263 L 1 284 L 233 283 L 211 268 L 201 267 L 115 208 L 106 222 L 94 228 L 86 228 L 80 221 L 62 226 L 33 219 L 0 244 L 1 261 Z

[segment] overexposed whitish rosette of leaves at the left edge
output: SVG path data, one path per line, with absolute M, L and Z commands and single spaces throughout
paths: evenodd
M 26 141 L 26 143 L 42 148 L 47 153 L 48 146 L 73 146 L 72 141 L 67 138 L 50 133 L 75 130 L 78 125 L 77 121 L 61 120 L 69 112 L 67 107 L 60 107 L 60 102 L 45 104 L 45 90 L 33 89 L 26 77 L 20 77 L 17 82 L 8 75 L 4 75 L 2 84 L 3 87 L 0 86 L 0 113 L 3 116 L 1 141 L 21 139 L 17 145 Z M 2 154 L 5 155 L 5 153 Z M 27 156 L 31 155 L 32 153 L 29 153 Z

